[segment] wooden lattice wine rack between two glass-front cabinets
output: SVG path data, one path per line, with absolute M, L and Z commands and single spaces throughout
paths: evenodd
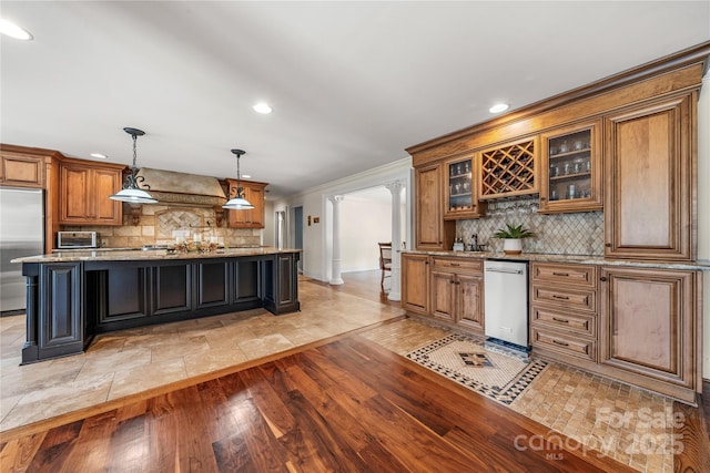
M 536 151 L 535 138 L 483 151 L 480 198 L 537 193 Z

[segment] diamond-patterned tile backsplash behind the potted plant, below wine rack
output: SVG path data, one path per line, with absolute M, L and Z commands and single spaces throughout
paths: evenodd
M 503 240 L 493 234 L 506 224 L 523 224 L 536 235 L 523 241 L 526 253 L 604 256 L 602 212 L 545 215 L 537 208 L 537 197 L 490 202 L 484 218 L 456 222 L 456 237 L 469 244 L 471 235 L 478 234 L 486 250 L 503 251 Z

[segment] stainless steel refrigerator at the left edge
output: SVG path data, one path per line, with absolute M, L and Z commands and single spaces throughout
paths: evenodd
M 0 187 L 0 313 L 21 313 L 27 307 L 21 256 L 44 253 L 44 192 Z

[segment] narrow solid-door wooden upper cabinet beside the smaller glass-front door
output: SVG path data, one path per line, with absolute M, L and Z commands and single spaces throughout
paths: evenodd
M 450 249 L 455 222 L 444 220 L 442 164 L 415 171 L 415 238 L 417 249 Z

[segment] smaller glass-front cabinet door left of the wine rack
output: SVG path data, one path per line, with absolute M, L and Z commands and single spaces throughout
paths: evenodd
M 477 218 L 480 217 L 476 189 L 474 155 L 458 156 L 446 162 L 444 166 L 446 186 L 444 192 L 444 218 Z

